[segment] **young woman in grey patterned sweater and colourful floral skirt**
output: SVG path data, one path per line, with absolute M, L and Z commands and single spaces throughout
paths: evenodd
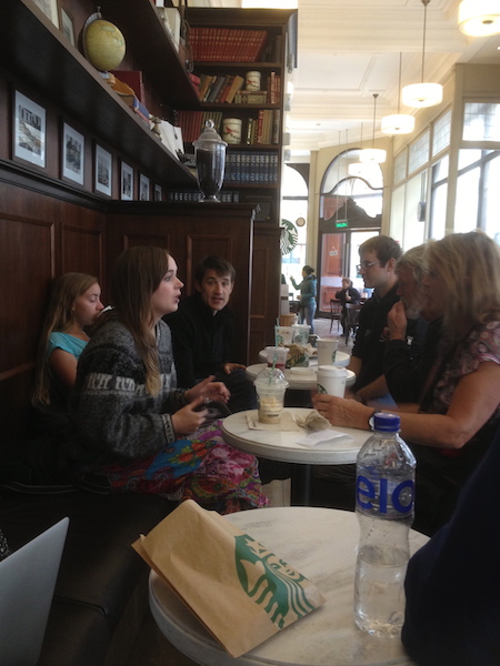
M 160 248 L 137 246 L 117 260 L 116 309 L 104 313 L 81 355 L 71 400 L 76 437 L 70 455 L 82 473 L 113 491 L 192 498 L 231 513 L 264 506 L 257 461 L 204 425 L 204 401 L 227 402 L 213 376 L 188 391 L 176 387 L 170 329 L 182 282 Z

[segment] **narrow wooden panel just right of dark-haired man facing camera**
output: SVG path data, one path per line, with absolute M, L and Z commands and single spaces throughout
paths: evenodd
M 280 230 L 256 224 L 250 309 L 250 363 L 259 362 L 259 351 L 271 344 L 280 313 L 281 251 Z

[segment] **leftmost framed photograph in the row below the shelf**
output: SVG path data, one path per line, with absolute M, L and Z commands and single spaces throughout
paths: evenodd
M 37 167 L 46 167 L 46 110 L 16 91 L 13 154 Z

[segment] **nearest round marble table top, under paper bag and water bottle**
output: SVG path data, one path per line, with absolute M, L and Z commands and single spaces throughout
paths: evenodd
M 241 657 L 230 657 L 167 585 L 151 572 L 150 607 L 164 636 L 202 666 L 410 666 L 399 639 L 369 636 L 353 620 L 356 514 L 277 507 L 228 516 L 242 532 L 307 576 L 326 604 Z M 428 537 L 411 531 L 414 552 Z M 230 619 L 228 618 L 228 622 Z

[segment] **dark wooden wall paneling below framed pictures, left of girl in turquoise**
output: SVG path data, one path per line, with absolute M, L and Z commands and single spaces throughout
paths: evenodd
M 0 169 L 0 437 L 30 434 L 30 395 L 52 279 L 103 273 L 102 212 L 8 182 Z M 67 223 L 72 221 L 72 224 Z

